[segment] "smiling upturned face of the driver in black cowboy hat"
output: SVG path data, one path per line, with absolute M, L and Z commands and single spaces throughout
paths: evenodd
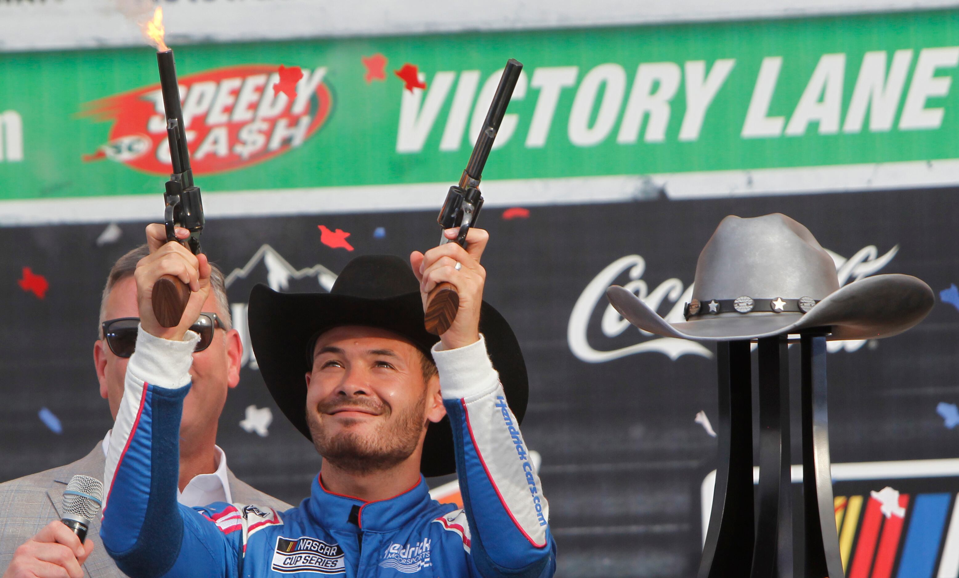
M 353 326 L 320 335 L 313 353 L 306 418 L 323 459 L 361 474 L 418 461 L 427 426 L 446 415 L 422 354 L 399 335 Z

